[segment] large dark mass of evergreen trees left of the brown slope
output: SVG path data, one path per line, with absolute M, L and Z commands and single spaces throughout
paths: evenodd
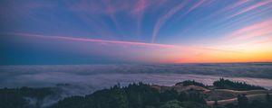
M 173 100 L 180 103 L 170 102 Z M 168 90 L 160 93 L 151 85 L 139 83 L 126 87 L 114 85 L 110 89 L 103 89 L 86 96 L 68 97 L 53 104 L 52 108 L 166 108 L 172 105 L 177 106 L 177 104 L 181 107 L 181 102 L 187 105 L 188 102 L 199 103 L 201 104 L 199 108 L 208 107 L 204 96 L 198 91 L 192 90 L 179 94 L 175 90 Z

